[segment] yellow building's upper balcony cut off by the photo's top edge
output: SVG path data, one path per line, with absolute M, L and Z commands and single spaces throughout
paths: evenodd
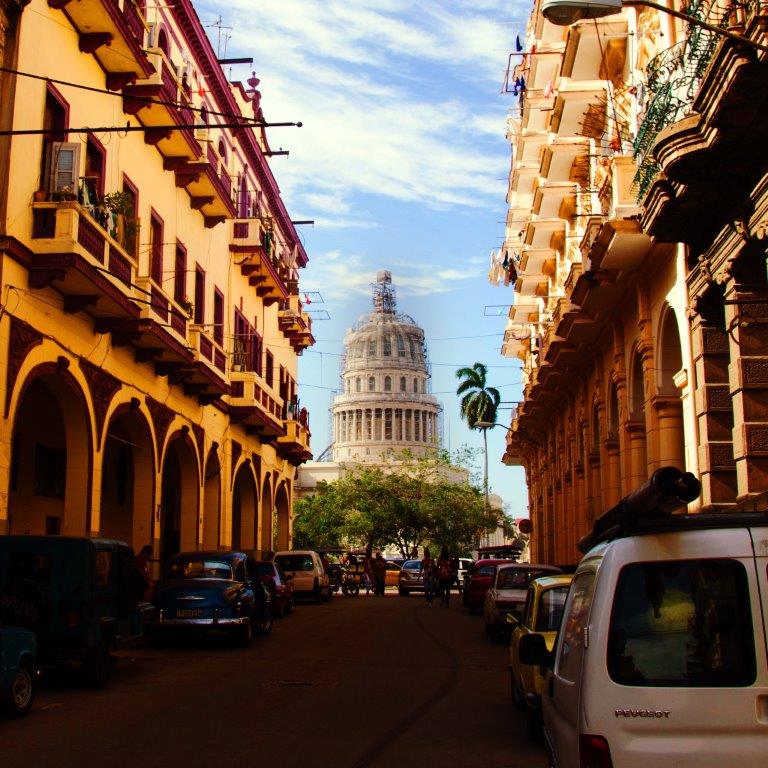
M 111 90 L 151 74 L 142 50 L 146 20 L 134 0 L 48 0 L 48 5 L 67 14 L 80 50 L 98 60 Z

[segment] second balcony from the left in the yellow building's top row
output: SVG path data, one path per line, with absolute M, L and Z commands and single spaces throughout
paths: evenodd
M 146 128 L 144 140 L 156 146 L 164 158 L 196 162 L 202 148 L 194 129 L 189 127 L 197 119 L 197 113 L 191 109 L 192 101 L 184 92 L 173 62 L 160 48 L 148 49 L 147 57 L 151 71 L 123 89 L 123 110 L 136 116 Z

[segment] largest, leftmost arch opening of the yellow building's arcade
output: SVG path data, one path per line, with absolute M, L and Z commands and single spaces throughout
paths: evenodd
M 8 532 L 91 533 L 93 421 L 68 361 L 33 368 L 12 411 Z

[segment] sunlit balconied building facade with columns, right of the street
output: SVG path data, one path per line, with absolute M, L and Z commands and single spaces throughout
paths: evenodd
M 766 41 L 764 5 L 683 10 Z M 653 9 L 561 27 L 534 8 L 496 265 L 524 384 L 504 461 L 526 471 L 534 561 L 577 562 L 664 465 L 701 478 L 692 511 L 766 506 L 766 61 Z

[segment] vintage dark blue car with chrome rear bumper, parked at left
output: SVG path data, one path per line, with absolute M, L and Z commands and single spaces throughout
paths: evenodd
M 168 562 L 155 588 L 156 616 L 148 622 L 151 641 L 174 630 L 218 630 L 238 644 L 272 630 L 269 590 L 254 560 L 243 552 L 181 552 Z

